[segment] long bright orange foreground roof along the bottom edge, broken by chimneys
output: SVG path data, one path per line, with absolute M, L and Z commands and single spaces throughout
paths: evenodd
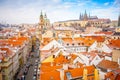
M 61 80 L 59 71 L 61 68 L 62 66 L 50 66 L 50 63 L 47 63 L 47 65 L 41 64 L 40 80 Z M 94 66 L 86 66 L 85 68 L 88 70 L 89 75 L 94 74 Z M 68 80 L 66 76 L 67 72 L 71 74 L 72 78 L 83 77 L 83 70 L 84 67 L 65 70 L 64 80 Z

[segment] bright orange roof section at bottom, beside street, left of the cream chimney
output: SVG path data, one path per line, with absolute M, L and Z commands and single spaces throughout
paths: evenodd
M 57 69 L 62 66 L 51 66 L 51 63 L 42 63 L 40 68 L 40 80 L 60 80 L 60 73 Z

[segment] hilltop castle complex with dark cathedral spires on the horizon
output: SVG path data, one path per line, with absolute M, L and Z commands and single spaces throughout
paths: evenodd
M 100 19 L 97 16 L 88 15 L 86 10 L 84 14 L 80 13 L 79 19 L 59 21 L 54 23 L 55 26 L 69 26 L 69 27 L 109 27 L 113 26 L 110 19 Z

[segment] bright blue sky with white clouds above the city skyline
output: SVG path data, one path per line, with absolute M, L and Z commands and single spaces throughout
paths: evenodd
M 118 20 L 120 0 L 0 0 L 0 23 L 34 24 L 41 11 L 50 22 L 79 19 L 80 13 Z

